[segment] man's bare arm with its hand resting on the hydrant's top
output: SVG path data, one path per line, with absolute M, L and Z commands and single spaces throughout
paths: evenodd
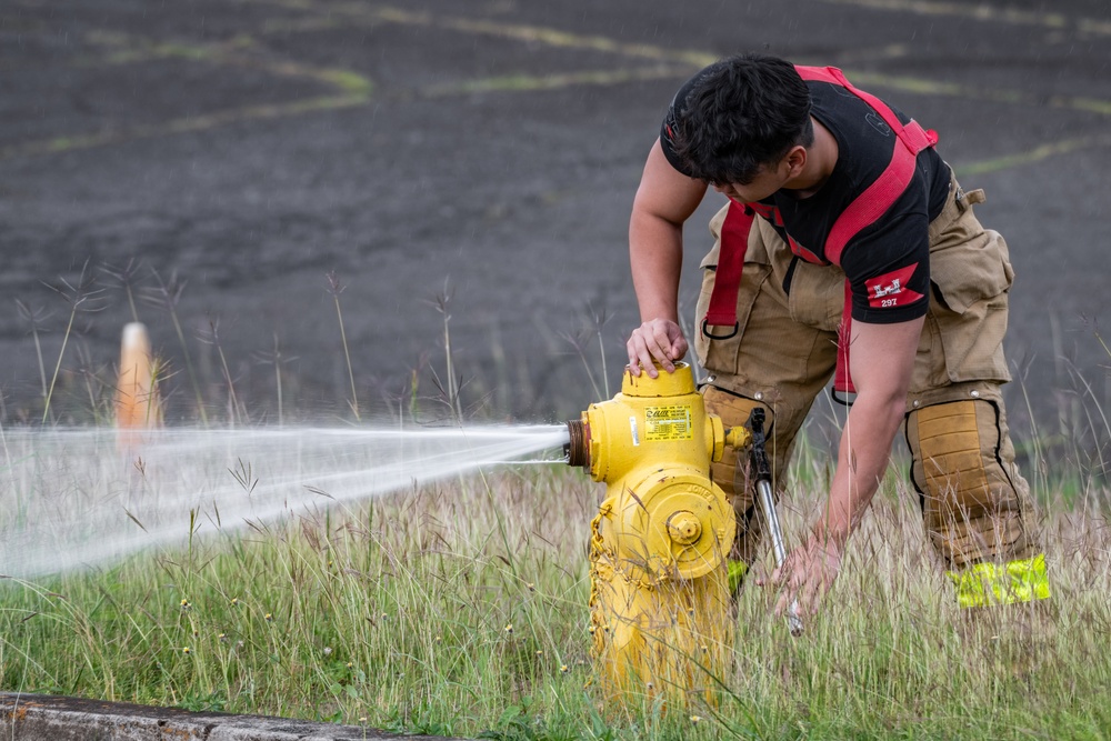
M 629 259 L 642 322 L 625 346 L 634 374 L 643 368 L 654 378 L 653 361 L 671 372 L 674 361 L 687 354 L 687 339 L 679 329 L 683 223 L 702 202 L 705 189 L 704 182 L 671 167 L 655 142 L 629 220 Z

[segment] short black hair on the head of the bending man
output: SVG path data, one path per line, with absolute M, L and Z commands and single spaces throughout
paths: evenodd
M 761 166 L 814 140 L 810 91 L 794 66 L 740 54 L 707 67 L 683 86 L 668 122 L 671 146 L 692 178 L 748 184 Z

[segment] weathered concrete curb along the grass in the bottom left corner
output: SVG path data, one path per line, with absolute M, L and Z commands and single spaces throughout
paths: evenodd
M 12 741 L 384 741 L 430 740 L 433 737 L 401 737 L 358 725 L 287 718 L 197 713 L 127 702 L 0 692 L 0 738 Z

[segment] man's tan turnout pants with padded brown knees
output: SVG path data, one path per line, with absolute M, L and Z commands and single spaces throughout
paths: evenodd
M 1013 272 L 1002 237 L 972 212 L 982 191 L 955 181 L 930 224 L 930 309 L 908 397 L 907 440 L 929 539 L 951 571 L 984 561 L 1013 562 L 1037 550 L 1029 487 L 1014 465 L 1000 384 L 1008 289 Z M 722 209 L 710 224 L 713 250 L 702 262 L 698 317 L 705 314 L 720 250 Z M 799 261 L 790 293 L 783 281 L 792 253 L 763 219 L 749 237 L 737 299 L 739 331 L 730 339 L 699 332 L 694 350 L 709 375 L 707 410 L 727 427 L 755 404 L 767 409 L 769 457 L 777 490 L 810 407 L 837 361 L 844 273 Z M 713 465 L 714 480 L 738 515 L 733 558 L 751 563 L 760 538 L 752 493 L 733 481 L 734 459 Z M 1043 564 L 1043 561 L 1042 561 Z M 1042 565 L 1042 569 L 1044 567 Z

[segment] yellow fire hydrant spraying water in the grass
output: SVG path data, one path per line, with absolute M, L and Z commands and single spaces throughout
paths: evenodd
M 632 375 L 568 422 L 568 462 L 607 484 L 591 527 L 590 613 L 597 673 L 610 695 L 707 692 L 732 648 L 724 559 L 733 509 L 710 481 L 725 444 L 691 369 Z

